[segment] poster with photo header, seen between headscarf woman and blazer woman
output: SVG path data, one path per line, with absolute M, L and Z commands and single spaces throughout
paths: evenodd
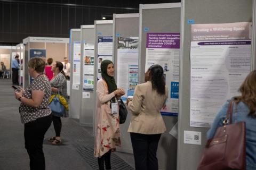
M 139 37 L 117 38 L 117 87 L 125 91 L 122 100 L 133 96 L 135 86 L 139 81 Z

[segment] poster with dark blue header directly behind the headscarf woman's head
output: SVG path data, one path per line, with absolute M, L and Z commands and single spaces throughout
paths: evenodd
M 100 64 L 104 60 L 113 61 L 113 37 L 98 37 L 98 80 L 101 79 Z

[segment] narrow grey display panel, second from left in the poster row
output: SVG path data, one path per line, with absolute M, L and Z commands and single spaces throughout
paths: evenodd
M 79 123 L 93 125 L 94 113 L 94 25 L 81 25 L 81 113 Z

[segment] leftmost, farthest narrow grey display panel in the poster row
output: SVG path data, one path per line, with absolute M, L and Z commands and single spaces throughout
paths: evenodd
M 81 84 L 80 84 L 80 65 L 81 65 L 81 29 L 70 29 L 70 115 L 71 118 L 79 119 L 81 112 Z

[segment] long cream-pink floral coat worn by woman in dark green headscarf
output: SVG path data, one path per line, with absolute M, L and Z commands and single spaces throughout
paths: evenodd
M 101 157 L 110 149 L 121 145 L 119 114 L 112 115 L 110 109 L 110 99 L 114 96 L 114 92 L 108 94 L 106 82 L 100 79 L 97 84 L 94 157 Z

